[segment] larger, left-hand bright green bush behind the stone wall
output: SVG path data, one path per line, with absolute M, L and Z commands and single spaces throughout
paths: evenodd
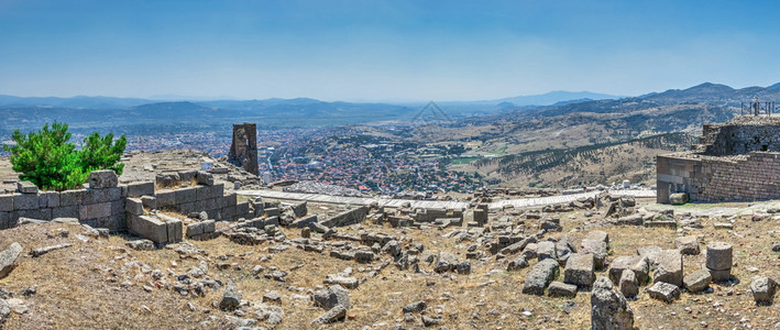
M 76 188 L 87 180 L 88 172 L 79 166 L 76 145 L 68 143 L 68 124 L 48 123 L 37 132 L 26 135 L 13 131 L 11 139 L 17 145 L 3 145 L 11 153 L 13 170 L 21 173 L 22 180 L 30 180 L 44 189 L 65 190 Z

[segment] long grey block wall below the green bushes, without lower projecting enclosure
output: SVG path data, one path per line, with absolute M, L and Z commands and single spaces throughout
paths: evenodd
M 249 202 L 238 202 L 235 194 L 224 195 L 223 184 L 213 184 L 208 173 L 198 173 L 197 186 L 155 191 L 154 183 L 118 185 L 111 170 L 90 174 L 89 188 L 65 191 L 39 191 L 30 183 L 20 183 L 19 194 L 0 195 L 0 229 L 15 227 L 19 218 L 53 220 L 76 218 L 94 228 L 111 231 L 128 229 L 131 217 L 160 209 L 188 215 L 206 211 L 209 219 L 252 219 Z M 125 204 L 130 200 L 130 206 Z

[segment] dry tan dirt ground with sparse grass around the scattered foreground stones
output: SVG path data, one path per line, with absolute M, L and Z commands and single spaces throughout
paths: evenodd
M 686 234 L 699 238 L 700 248 L 707 242 L 725 241 L 734 245 L 735 266 L 732 283 L 712 284 L 712 292 L 705 294 L 683 293 L 672 304 L 649 298 L 642 287 L 636 300 L 628 305 L 635 312 L 635 326 L 639 329 L 683 329 L 683 328 L 755 328 L 773 329 L 780 322 L 780 305 L 756 306 L 749 294 L 749 283 L 757 274 L 780 278 L 780 253 L 772 252 L 771 245 L 780 241 L 780 220 L 769 218 L 751 221 L 754 210 L 773 207 L 777 202 L 723 205 L 686 205 L 679 207 L 646 205 L 648 209 L 674 209 L 675 212 L 694 212 L 702 220 L 702 229 Z M 321 215 L 333 212 L 332 207 L 309 205 L 311 212 Z M 644 227 L 598 227 L 596 217 L 586 218 L 584 211 L 557 213 L 561 219 L 562 232 L 546 234 L 559 238 L 565 233 L 579 245 L 586 234 L 585 227 L 608 232 L 611 250 L 607 263 L 620 255 L 636 254 L 644 245 L 673 249 L 673 240 L 682 232 L 664 228 Z M 734 230 L 714 229 L 713 223 L 733 220 Z M 519 221 L 519 220 L 516 220 Z M 221 222 L 219 226 L 227 226 Z M 530 224 L 530 222 L 528 222 Z M 57 235 L 59 229 L 69 235 Z M 282 229 L 288 240 L 299 237 L 298 229 Z M 339 233 L 359 237 L 361 231 L 383 232 L 402 240 L 402 244 L 421 243 L 425 253 L 436 255 L 440 251 L 455 254 L 465 260 L 465 251 L 474 242 L 455 242 L 443 237 L 451 230 L 429 228 L 394 229 L 363 222 L 340 228 Z M 513 258 L 496 260 L 486 252 L 486 246 L 477 246 L 488 257 L 473 261 L 472 273 L 437 274 L 432 265 L 420 262 L 424 273 L 400 271 L 391 263 L 376 276 L 375 271 L 388 260 L 380 254 L 370 264 L 342 261 L 328 256 L 328 249 L 320 254 L 306 252 L 292 244 L 289 249 L 274 252 L 277 242 L 260 245 L 241 245 L 221 237 L 210 241 L 188 241 L 172 244 L 154 251 L 135 251 L 125 246 L 131 238 L 111 235 L 109 239 L 90 238 L 88 242 L 78 239 L 84 230 L 79 226 L 44 223 L 23 224 L 0 232 L 0 249 L 12 242 L 24 248 L 17 268 L 0 279 L 0 288 L 13 293 L 26 306 L 23 314 L 12 312 L 6 329 L 232 329 L 237 319 L 253 319 L 255 326 L 273 328 L 261 317 L 263 296 L 277 292 L 281 302 L 265 302 L 284 310 L 278 329 L 391 329 L 396 324 L 405 328 L 422 326 L 419 315 L 406 322 L 402 308 L 417 300 L 425 300 L 425 315 L 440 316 L 441 324 L 449 329 L 587 329 L 590 327 L 590 293 L 580 292 L 573 299 L 529 296 L 520 290 L 529 268 L 506 272 L 505 263 Z M 312 241 L 320 241 L 312 234 Z M 329 240 L 333 243 L 338 240 Z M 74 245 L 64 250 L 32 257 L 34 248 L 69 242 Z M 176 248 L 191 246 L 202 252 L 179 253 Z M 353 244 L 360 244 L 353 242 Z M 193 249 L 189 249 L 193 250 Z M 208 265 L 207 278 L 222 284 L 233 280 L 243 294 L 245 306 L 237 312 L 226 312 L 217 308 L 221 288 L 207 288 L 204 296 L 180 295 L 169 288 L 177 284 L 178 276 L 193 267 Z M 684 273 L 689 274 L 704 262 L 703 255 L 685 256 Z M 536 261 L 530 262 L 531 266 Z M 260 276 L 253 268 L 261 265 Z M 276 267 L 276 268 L 274 268 Z M 343 322 L 314 326 L 311 321 L 325 310 L 315 307 L 310 294 L 328 274 L 336 274 L 352 267 L 354 277 L 365 279 L 358 288 L 350 290 L 352 308 Z M 754 270 L 755 267 L 756 270 Z M 154 271 L 162 277 L 153 278 Z M 271 270 L 288 272 L 285 282 L 262 276 Z M 562 272 L 561 272 L 562 273 Z M 606 276 L 606 271 L 596 276 Z M 562 280 L 562 274 L 557 278 Z M 22 292 L 37 286 L 36 293 L 22 296 Z M 573 302 L 573 304 L 572 304 Z M 191 305 L 191 308 L 190 306 Z

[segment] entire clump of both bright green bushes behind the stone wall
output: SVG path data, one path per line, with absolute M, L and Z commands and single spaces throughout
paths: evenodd
M 3 148 L 11 153 L 13 170 L 21 173 L 20 179 L 30 180 L 42 189 L 78 188 L 92 170 L 113 169 L 121 174 L 124 167 L 119 163 L 127 144 L 124 135 L 112 143 L 113 134 L 101 139 L 96 132 L 85 139 L 84 150 L 77 151 L 76 145 L 68 142 L 68 124 L 55 121 L 51 128 L 46 123 L 41 131 L 28 134 L 15 130 L 11 139 L 17 145 L 3 145 Z

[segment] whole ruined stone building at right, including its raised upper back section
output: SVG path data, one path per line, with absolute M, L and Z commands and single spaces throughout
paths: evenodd
M 746 116 L 704 125 L 689 152 L 657 157 L 658 202 L 780 198 L 780 118 Z

